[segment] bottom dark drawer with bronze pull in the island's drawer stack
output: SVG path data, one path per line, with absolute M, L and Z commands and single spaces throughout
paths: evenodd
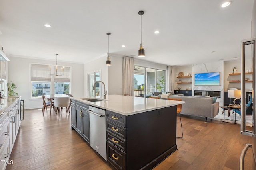
M 109 141 L 107 141 L 107 160 L 115 165 L 117 169 L 125 170 L 126 153 L 116 148 Z

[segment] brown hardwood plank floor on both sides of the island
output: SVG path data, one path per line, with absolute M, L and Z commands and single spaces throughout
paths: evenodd
M 7 170 L 28 169 L 115 169 L 71 130 L 71 117 L 44 116 L 41 109 L 24 111 L 24 120 L 10 156 L 14 164 Z M 181 135 L 177 119 L 177 135 Z M 154 170 L 238 170 L 239 159 L 251 137 L 240 134 L 240 125 L 182 115 L 184 138 L 177 139 L 178 150 Z M 245 157 L 245 169 L 252 169 L 252 149 Z

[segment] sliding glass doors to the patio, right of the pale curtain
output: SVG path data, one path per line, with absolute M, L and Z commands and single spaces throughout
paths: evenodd
M 152 92 L 165 92 L 165 71 L 135 66 L 134 96 L 149 97 Z

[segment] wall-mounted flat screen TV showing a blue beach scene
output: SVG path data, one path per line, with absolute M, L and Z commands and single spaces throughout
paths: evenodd
M 206 72 L 195 74 L 195 86 L 219 86 L 220 72 Z

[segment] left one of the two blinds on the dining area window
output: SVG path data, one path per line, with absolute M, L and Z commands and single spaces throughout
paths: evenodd
M 50 68 L 48 65 L 31 64 L 31 81 L 50 82 Z

